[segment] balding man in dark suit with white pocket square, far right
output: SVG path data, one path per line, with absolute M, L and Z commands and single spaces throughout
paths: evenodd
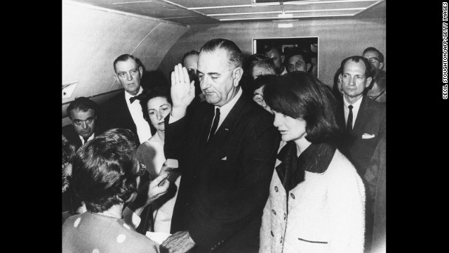
M 347 133 L 342 151 L 363 177 L 377 143 L 385 137 L 385 105 L 363 95 L 373 77 L 366 58 L 348 57 L 342 61 L 341 67 L 344 105 L 340 107 L 340 124 Z

